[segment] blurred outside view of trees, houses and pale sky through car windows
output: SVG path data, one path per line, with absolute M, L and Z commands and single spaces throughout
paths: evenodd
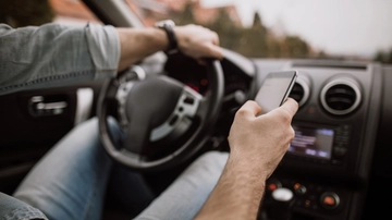
M 249 58 L 392 63 L 391 0 L 124 1 L 145 26 L 166 19 L 177 25 L 200 24 L 219 34 L 222 47 Z M 99 23 L 77 0 L 13 0 L 1 4 L 0 22 L 14 27 L 46 22 Z

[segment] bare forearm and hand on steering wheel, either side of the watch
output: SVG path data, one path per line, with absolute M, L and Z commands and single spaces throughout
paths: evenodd
M 117 30 L 121 50 L 119 71 L 168 48 L 168 36 L 160 28 L 117 27 Z M 203 58 L 223 59 L 217 33 L 194 24 L 175 26 L 174 33 L 180 51 L 196 59 L 199 63 L 203 63 Z

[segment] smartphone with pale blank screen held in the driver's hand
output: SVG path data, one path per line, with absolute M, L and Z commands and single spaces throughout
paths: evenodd
M 261 114 L 280 107 L 290 95 L 297 77 L 297 71 L 271 72 L 262 82 L 255 101 L 261 107 Z

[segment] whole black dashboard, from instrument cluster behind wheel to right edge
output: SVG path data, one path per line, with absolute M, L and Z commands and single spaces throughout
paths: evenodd
M 215 146 L 223 150 L 229 149 L 225 137 L 235 110 L 255 98 L 267 74 L 298 71 L 290 95 L 299 105 L 292 123 L 295 137 L 267 182 L 258 219 L 371 219 L 372 211 L 382 211 L 380 205 L 375 205 L 373 196 L 377 185 L 391 183 L 391 175 L 385 174 L 391 166 L 379 162 L 380 159 L 385 162 L 387 155 L 391 155 L 383 145 L 387 137 L 381 136 L 391 131 L 390 125 L 384 126 L 391 118 L 392 103 L 387 98 L 392 95 L 388 86 L 392 83 L 391 66 L 371 62 L 246 59 L 225 52 L 222 61 L 225 98 L 213 136 L 218 140 Z M 205 76 L 194 75 L 192 71 L 172 74 L 203 94 Z M 279 200 L 273 195 L 277 188 L 291 192 L 291 198 Z

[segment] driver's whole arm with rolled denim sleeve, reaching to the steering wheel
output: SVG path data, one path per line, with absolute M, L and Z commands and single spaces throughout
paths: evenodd
M 222 59 L 218 35 L 195 25 L 176 26 L 177 47 L 195 59 Z M 168 48 L 164 30 L 89 24 L 11 28 L 0 24 L 0 95 L 113 77 Z

